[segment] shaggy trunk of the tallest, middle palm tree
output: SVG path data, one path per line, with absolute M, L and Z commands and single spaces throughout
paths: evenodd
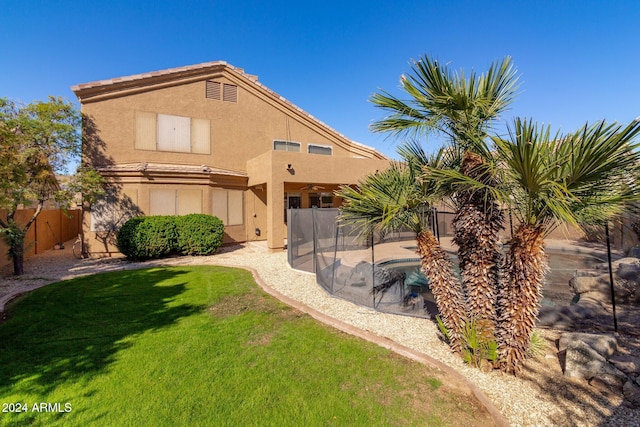
M 460 172 L 471 178 L 488 181 L 484 160 L 465 152 Z M 466 191 L 458 195 L 458 209 L 453 219 L 458 246 L 462 290 L 467 298 L 469 315 L 494 333 L 499 269 L 502 259 L 498 233 L 504 215 L 485 191 Z

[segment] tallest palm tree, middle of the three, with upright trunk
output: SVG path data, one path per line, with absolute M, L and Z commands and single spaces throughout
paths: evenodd
M 391 114 L 372 125 L 376 132 L 398 136 L 429 133 L 445 135 L 463 152 L 460 172 L 487 186 L 495 184 L 492 156 L 486 145 L 492 123 L 512 102 L 517 77 L 511 59 L 491 65 L 486 74 L 454 73 L 446 66 L 424 56 L 413 63 L 401 85 L 409 101 L 383 92 L 371 101 Z M 453 221 L 454 243 L 462 275 L 462 288 L 469 303 L 470 317 L 493 330 L 496 320 L 495 299 L 501 253 L 498 233 L 503 215 L 491 192 L 449 187 L 456 206 Z

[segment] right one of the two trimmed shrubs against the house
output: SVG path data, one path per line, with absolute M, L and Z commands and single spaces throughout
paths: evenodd
M 222 244 L 224 224 L 211 215 L 176 217 L 178 251 L 183 255 L 211 255 Z

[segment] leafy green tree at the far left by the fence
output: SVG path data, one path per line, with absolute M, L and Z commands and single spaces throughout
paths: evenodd
M 80 157 L 79 126 L 80 114 L 59 97 L 26 106 L 0 98 L 0 208 L 7 211 L 0 219 L 0 232 L 16 275 L 24 273 L 25 236 L 45 202 L 66 206 L 73 198 L 60 186 L 56 173 Z M 18 208 L 34 204 L 31 218 L 17 223 Z

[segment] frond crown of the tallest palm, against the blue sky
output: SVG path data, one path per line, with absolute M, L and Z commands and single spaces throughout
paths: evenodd
M 400 84 L 408 100 L 384 91 L 370 97 L 391 113 L 372 123 L 373 131 L 408 137 L 438 132 L 476 143 L 513 101 L 518 77 L 509 57 L 492 64 L 486 74 L 465 76 L 424 55 L 413 61 Z

